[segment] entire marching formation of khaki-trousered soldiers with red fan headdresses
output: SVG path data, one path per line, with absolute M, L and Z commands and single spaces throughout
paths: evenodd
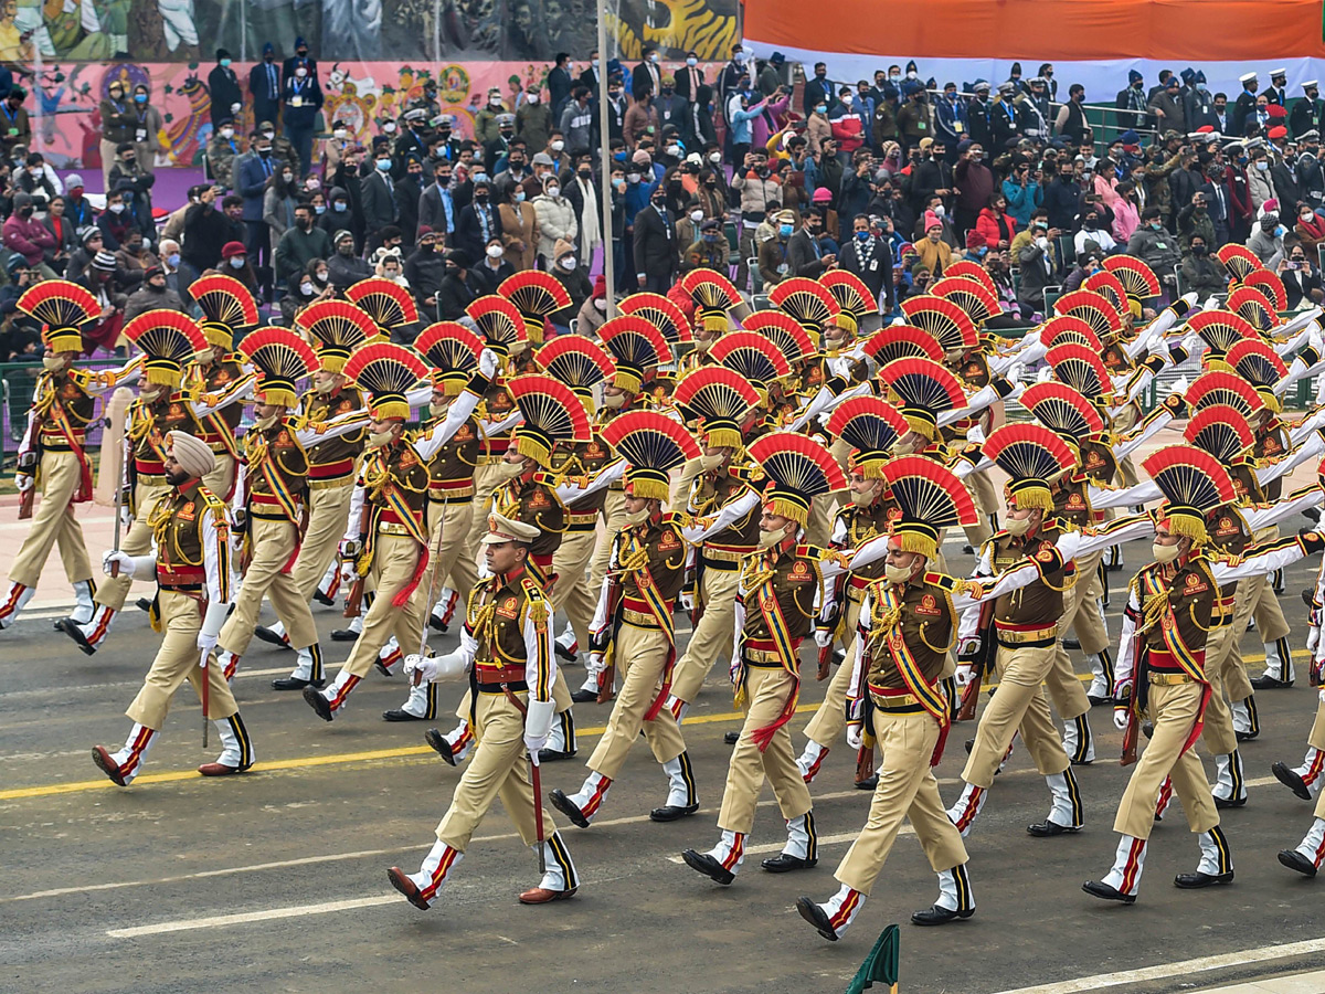
M 48 280 L 17 304 L 42 323 L 45 368 L 19 455 L 30 521 L 0 644 L 38 583 L 60 584 L 41 577 L 54 545 L 76 604 L 54 637 L 70 651 L 101 651 L 134 610 L 131 582 L 155 579 L 139 606 L 162 639 L 131 726 L 119 749 L 91 750 L 119 787 L 172 705 L 192 706 L 175 700 L 186 683 L 220 749 L 199 774 L 250 771 L 262 742 L 231 685 L 254 639 L 293 651 L 270 696 L 310 736 L 364 721 L 344 712 L 374 671 L 403 675 L 404 698 L 382 717 L 419 722 L 456 767 L 439 766 L 450 797 L 421 863 L 387 869 L 419 909 L 445 905 L 497 801 L 538 867 L 518 900 L 574 897 L 571 848 L 582 867 L 595 860 L 595 819 L 623 777 L 655 777 L 651 820 L 693 823 L 680 860 L 706 880 L 677 887 L 758 885 L 746 855 L 766 781 L 786 831 L 755 869 L 810 869 L 815 791 L 844 750 L 863 803 L 833 830 L 859 835 L 837 891 L 807 883 L 800 917 L 839 940 L 909 820 L 938 881 L 912 921 L 962 921 L 999 846 L 980 816 L 1015 750 L 1048 789 L 1027 812 L 1035 844 L 1085 827 L 1088 767 L 1114 761 L 1097 708 L 1134 766 L 1114 863 L 1085 893 L 1138 900 L 1174 797 L 1196 836 L 1174 884 L 1224 885 L 1238 836 L 1222 812 L 1248 803 L 1240 745 L 1260 732 L 1256 697 L 1298 680 L 1295 635 L 1313 687 L 1325 659 L 1325 570 L 1305 618 L 1275 595 L 1276 574 L 1325 550 L 1325 533 L 1279 530 L 1325 498 L 1325 406 L 1284 410 L 1298 380 L 1325 372 L 1325 346 L 1320 307 L 1281 322 L 1264 276 L 1248 280 L 1235 253 L 1222 261 L 1230 293 L 1198 309 L 1194 294 L 1163 306 L 1143 262 L 1110 257 L 1020 338 L 986 327 L 994 288 L 962 262 L 888 325 L 841 270 L 786 280 L 751 310 L 723 274 L 697 269 L 665 297 L 625 298 L 594 337 L 554 333 L 567 300 L 538 272 L 415 335 L 396 334 L 421 322 L 386 280 L 285 329 L 258 327 L 248 290 L 207 276 L 191 288 L 201 318 L 148 310 L 123 331 L 134 358 L 95 371 L 78 357 L 97 301 Z M 119 508 L 109 550 L 86 547 L 74 513 L 93 494 L 98 410 L 111 423 L 98 473 Z M 1181 443 L 1141 457 L 1178 427 Z M 1317 464 L 1317 482 L 1285 492 L 1288 473 Z M 945 553 L 962 534 L 970 558 L 959 543 Z M 1150 555 L 1126 567 L 1113 641 L 1106 574 L 1136 539 Z M 319 643 L 314 603 L 343 603 L 346 651 Z M 1252 619 L 1263 673 L 1239 648 Z M 458 631 L 458 648 L 435 652 L 433 631 Z M 815 681 L 823 702 L 802 726 Z M 686 747 L 701 693 L 731 693 L 743 713 L 725 777 Z M 591 708 L 606 730 L 590 751 L 576 721 Z M 933 767 L 963 745 L 943 797 Z M 644 749 L 660 773 L 628 765 Z M 1325 690 L 1302 762 L 1273 767 L 1317 799 L 1279 854 L 1308 877 L 1325 861 L 1322 773 Z M 716 824 L 697 816 L 701 787 Z

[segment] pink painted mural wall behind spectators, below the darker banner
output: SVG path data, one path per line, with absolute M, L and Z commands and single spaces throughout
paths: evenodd
M 21 82 L 29 87 L 29 113 L 33 117 L 33 148 L 41 151 L 56 168 L 91 168 L 99 166 L 101 113 L 111 80 L 126 83 L 132 91 L 146 83 L 150 101 L 162 113 L 162 130 L 156 155 L 158 167 L 196 166 L 212 137 L 212 98 L 207 87 L 211 65 L 178 62 L 113 62 L 66 64 L 44 66 L 40 80 L 28 76 Z M 363 142 L 382 133 L 382 123 L 396 119 L 420 99 L 428 81 L 437 83 L 437 101 L 444 113 L 456 118 L 456 133 L 473 137 L 474 115 L 488 99 L 488 90 L 497 87 L 507 107 L 514 107 L 518 94 L 534 83 L 543 83 L 549 64 L 522 62 L 330 62 L 318 66 L 326 98 L 323 119 L 330 130 L 333 121 L 344 121 L 350 133 Z M 664 64 L 664 69 L 668 69 Z M 236 69 L 240 69 L 236 65 Z M 705 68 L 714 78 L 721 64 Z M 244 78 L 244 74 L 241 74 Z M 34 103 L 40 103 L 38 109 Z M 236 125 L 238 134 L 256 127 L 253 107 L 246 102 Z

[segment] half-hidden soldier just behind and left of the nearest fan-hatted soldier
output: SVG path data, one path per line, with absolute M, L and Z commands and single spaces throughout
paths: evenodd
M 906 419 L 897 408 L 878 398 L 853 398 L 833 411 L 828 433 L 843 447 L 849 447 L 847 482 L 851 490 L 851 502 L 837 512 L 833 521 L 829 539 L 833 549 L 853 550 L 863 542 L 888 534 L 900 512 L 888 496 L 884 467 L 897 439 L 909 431 Z M 937 551 L 935 543 L 935 555 Z M 820 679 L 827 671 L 828 653 L 839 640 L 845 644 L 847 656 L 828 683 L 823 702 L 806 725 L 806 747 L 796 758 L 806 783 L 819 775 L 829 749 L 847 728 L 847 692 L 857 648 L 855 635 L 860 607 L 869 584 L 882 575 L 884 563 L 880 561 L 859 571 L 852 570 L 841 582 L 825 586 L 815 630 Z

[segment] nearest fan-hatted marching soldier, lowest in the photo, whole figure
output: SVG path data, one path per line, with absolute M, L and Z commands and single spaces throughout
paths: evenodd
M 912 921 L 942 925 L 975 913 L 966 846 L 943 810 L 933 773 L 950 728 L 942 679 L 957 640 L 958 612 L 1040 577 L 1039 566 L 1028 559 L 1004 570 L 994 583 L 928 571 L 941 529 L 979 512 L 957 477 L 921 456 L 892 460 L 881 478 L 898 517 L 882 573 L 869 582 L 860 608 L 848 740 L 872 750 L 864 741 L 869 730 L 882 747 L 882 769 L 865 828 L 837 867 L 837 893 L 824 904 L 810 897 L 796 901 L 800 916 L 831 941 L 841 938 L 860 913 L 904 818 L 910 819 L 938 875 L 938 900 L 912 914 Z

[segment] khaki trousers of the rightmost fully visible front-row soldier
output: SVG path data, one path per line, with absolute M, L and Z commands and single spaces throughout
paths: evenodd
M 1155 798 L 1165 778 L 1171 777 L 1191 831 L 1208 832 L 1219 824 L 1219 811 L 1210 793 L 1206 769 L 1195 749 L 1178 754 L 1196 721 L 1202 687 L 1195 683 L 1171 687 L 1151 684 L 1149 693 L 1147 712 L 1154 721 L 1155 733 L 1122 793 L 1113 831 L 1134 839 L 1149 839 L 1155 823 Z

